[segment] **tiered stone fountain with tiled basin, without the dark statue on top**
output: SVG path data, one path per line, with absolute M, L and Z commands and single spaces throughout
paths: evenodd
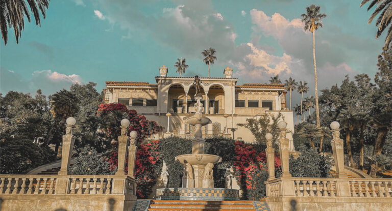
M 196 84 L 195 84 L 196 85 Z M 203 116 L 203 97 L 197 92 L 194 99 L 196 113 L 184 117 L 186 123 L 195 126 L 192 139 L 192 154 L 179 155 L 176 161 L 184 166 L 182 188 L 157 189 L 157 198 L 160 200 L 239 200 L 239 191 L 234 189 L 214 188 L 214 164 L 222 158 L 216 155 L 204 154 L 205 140 L 202 138 L 202 126 L 211 123 Z

